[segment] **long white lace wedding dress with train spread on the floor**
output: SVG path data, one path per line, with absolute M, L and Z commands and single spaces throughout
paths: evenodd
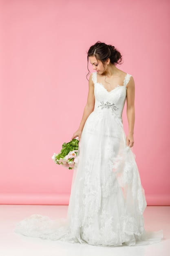
M 146 245 L 163 238 L 162 230 L 144 229 L 144 189 L 121 117 L 129 79 L 126 74 L 124 85 L 108 92 L 93 73 L 95 108 L 79 142 L 65 222 L 33 215 L 19 222 L 15 232 L 99 246 Z

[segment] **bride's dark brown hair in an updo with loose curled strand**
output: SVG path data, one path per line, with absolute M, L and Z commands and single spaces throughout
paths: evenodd
M 108 58 L 110 58 L 110 62 L 114 65 L 121 64 L 122 56 L 119 51 L 113 45 L 106 45 L 105 43 L 101 43 L 97 41 L 94 45 L 90 47 L 87 52 L 87 61 L 88 57 L 95 56 L 97 60 L 102 61 L 104 63 Z M 87 69 L 88 69 L 88 62 L 87 62 Z M 88 74 L 90 71 L 88 69 Z M 86 76 L 86 77 L 87 77 Z

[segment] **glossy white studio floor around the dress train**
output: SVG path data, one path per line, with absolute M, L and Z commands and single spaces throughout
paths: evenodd
M 68 206 L 0 205 L 0 256 L 169 256 L 170 206 L 150 206 L 144 213 L 145 229 L 163 229 L 160 243 L 138 247 L 96 247 L 21 236 L 13 232 L 15 222 L 38 213 L 52 219 L 65 218 Z

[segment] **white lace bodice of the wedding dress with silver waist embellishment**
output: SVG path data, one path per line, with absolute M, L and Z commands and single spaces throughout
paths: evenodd
M 126 86 L 130 80 L 130 74 L 126 74 L 123 85 L 117 85 L 113 90 L 108 92 L 102 83 L 97 82 L 97 73 L 94 72 L 92 80 L 94 83 L 95 109 L 99 111 L 108 109 L 113 111 L 117 117 L 122 117 L 124 104 L 126 101 Z

